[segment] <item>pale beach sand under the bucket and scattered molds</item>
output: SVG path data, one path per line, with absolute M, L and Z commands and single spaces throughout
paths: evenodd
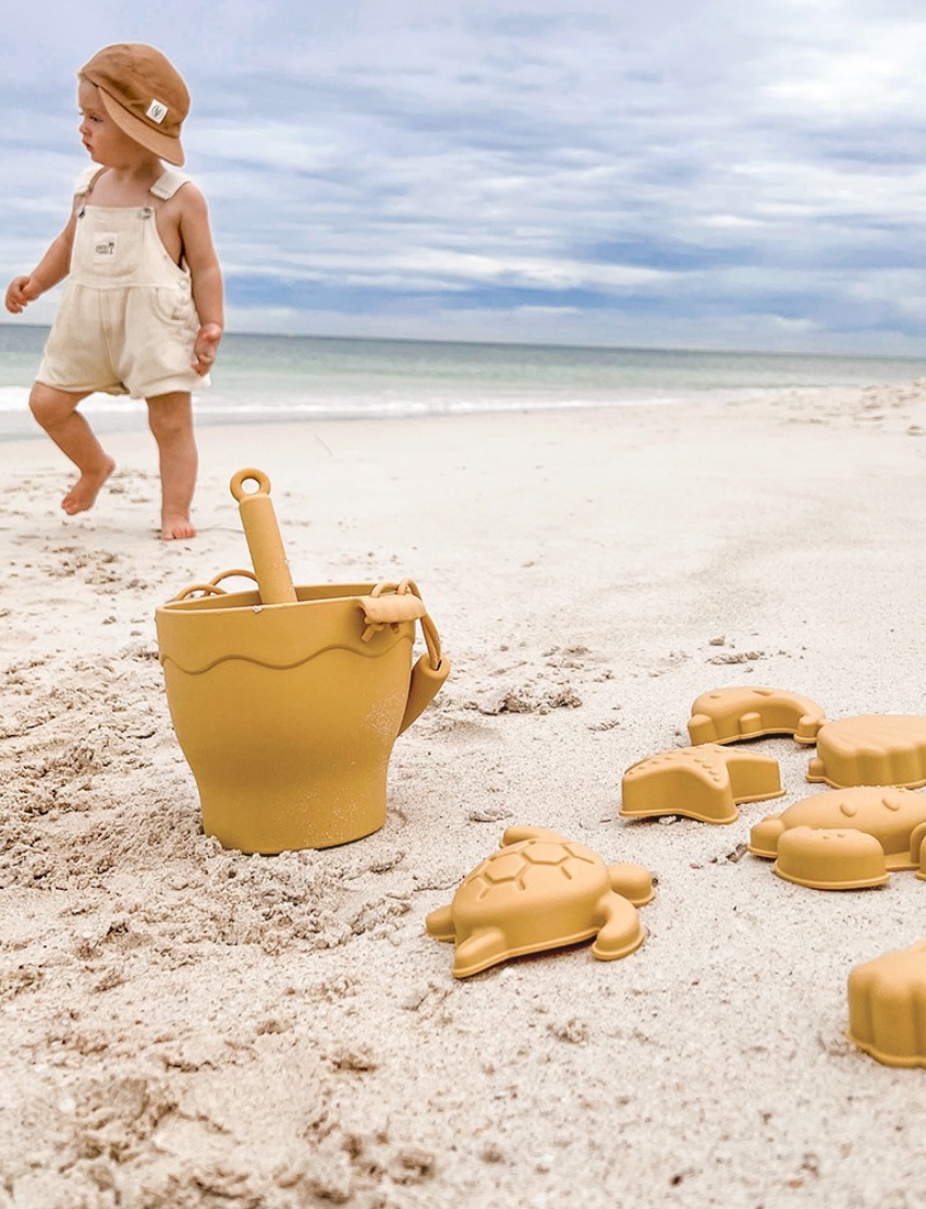
M 741 856 L 818 791 L 788 739 L 730 826 L 617 809 L 706 689 L 926 713 L 924 429 L 919 386 L 203 429 L 178 545 L 146 434 L 73 520 L 60 455 L 0 446 L 0 1207 L 921 1204 L 926 1071 L 846 1040 L 845 983 L 926 885 Z M 170 728 L 154 609 L 247 563 L 247 464 L 297 583 L 412 574 L 453 663 L 341 849 L 222 851 Z M 513 823 L 650 868 L 643 947 L 455 980 L 426 914 Z

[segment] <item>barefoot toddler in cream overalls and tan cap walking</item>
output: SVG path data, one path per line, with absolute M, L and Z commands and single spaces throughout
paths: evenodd
M 115 462 L 77 404 L 93 391 L 147 403 L 161 464 L 161 537 L 190 538 L 197 470 L 191 391 L 208 386 L 222 335 L 222 280 L 206 199 L 183 173 L 180 126 L 190 108 L 170 63 L 139 42 L 106 46 L 79 73 L 85 170 L 68 225 L 6 308 L 68 277 L 29 406 L 80 470 L 62 501 L 93 507 Z

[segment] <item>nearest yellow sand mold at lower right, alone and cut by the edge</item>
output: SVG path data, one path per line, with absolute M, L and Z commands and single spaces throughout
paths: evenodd
M 926 941 L 851 971 L 846 1031 L 886 1066 L 926 1066 Z

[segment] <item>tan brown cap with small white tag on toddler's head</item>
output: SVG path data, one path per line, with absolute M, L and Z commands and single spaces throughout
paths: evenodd
M 123 134 L 160 160 L 184 162 L 180 127 L 190 112 L 190 93 L 161 51 L 144 42 L 116 42 L 97 51 L 79 74 L 99 88 Z

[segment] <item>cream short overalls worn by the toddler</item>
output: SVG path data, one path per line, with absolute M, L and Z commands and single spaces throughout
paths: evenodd
M 88 197 L 102 170 L 82 173 L 75 196 Z M 167 201 L 187 179 L 168 169 L 150 192 Z M 83 202 L 36 380 L 58 391 L 135 399 L 198 391 L 209 384 L 190 364 L 198 329 L 190 271 L 161 242 L 154 207 Z

